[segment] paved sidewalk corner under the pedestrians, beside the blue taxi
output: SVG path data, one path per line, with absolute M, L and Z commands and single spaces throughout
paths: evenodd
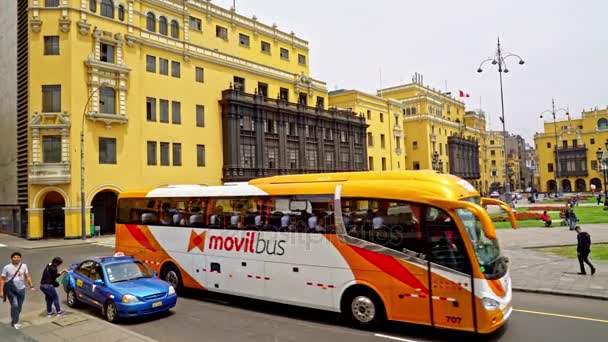
M 44 312 L 22 315 L 21 330 L 11 328 L 9 319 L 0 323 L 2 341 L 104 341 L 104 342 L 154 342 L 155 340 L 130 331 L 118 324 L 81 312 L 68 311 L 63 317 L 47 318 Z

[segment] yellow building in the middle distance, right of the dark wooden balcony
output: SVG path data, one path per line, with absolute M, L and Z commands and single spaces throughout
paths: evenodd
M 488 191 L 490 171 L 482 165 L 485 116 L 466 112 L 464 102 L 423 85 L 421 78 L 376 95 L 332 91 L 329 105 L 366 118 L 370 170 L 435 169 Z

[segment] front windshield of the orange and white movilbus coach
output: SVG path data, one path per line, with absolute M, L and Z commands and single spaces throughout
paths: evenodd
M 472 200 L 475 203 L 475 200 Z M 467 235 L 471 240 L 481 271 L 488 279 L 498 279 L 504 276 L 507 268 L 506 258 L 500 251 L 497 239 L 490 239 L 484 233 L 481 222 L 468 209 L 456 209 L 456 214 L 462 221 Z

